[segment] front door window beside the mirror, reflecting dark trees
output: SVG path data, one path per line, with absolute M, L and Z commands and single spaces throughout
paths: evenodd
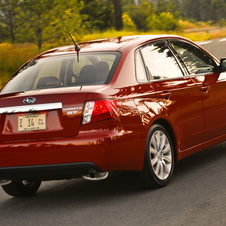
M 216 67 L 214 60 L 198 47 L 178 40 L 171 40 L 170 43 L 179 54 L 190 74 L 214 72 Z

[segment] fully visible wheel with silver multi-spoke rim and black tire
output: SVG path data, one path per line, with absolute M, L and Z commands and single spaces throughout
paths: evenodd
M 174 170 L 174 148 L 166 129 L 151 126 L 144 159 L 142 177 L 148 188 L 161 188 L 168 184 Z

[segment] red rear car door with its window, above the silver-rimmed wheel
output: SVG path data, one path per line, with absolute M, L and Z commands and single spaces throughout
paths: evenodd
M 183 68 L 164 40 L 149 43 L 140 52 L 166 120 L 174 127 L 179 151 L 201 143 L 203 105 L 195 82 L 184 76 Z

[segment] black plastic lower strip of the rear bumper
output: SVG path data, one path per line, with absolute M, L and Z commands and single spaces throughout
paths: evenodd
M 92 171 L 101 172 L 93 163 L 67 163 L 53 165 L 0 168 L 0 180 L 60 180 L 81 177 Z

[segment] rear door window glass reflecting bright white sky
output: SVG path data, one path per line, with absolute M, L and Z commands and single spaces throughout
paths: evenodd
M 182 77 L 183 73 L 171 50 L 163 41 L 150 43 L 141 49 L 150 80 Z

